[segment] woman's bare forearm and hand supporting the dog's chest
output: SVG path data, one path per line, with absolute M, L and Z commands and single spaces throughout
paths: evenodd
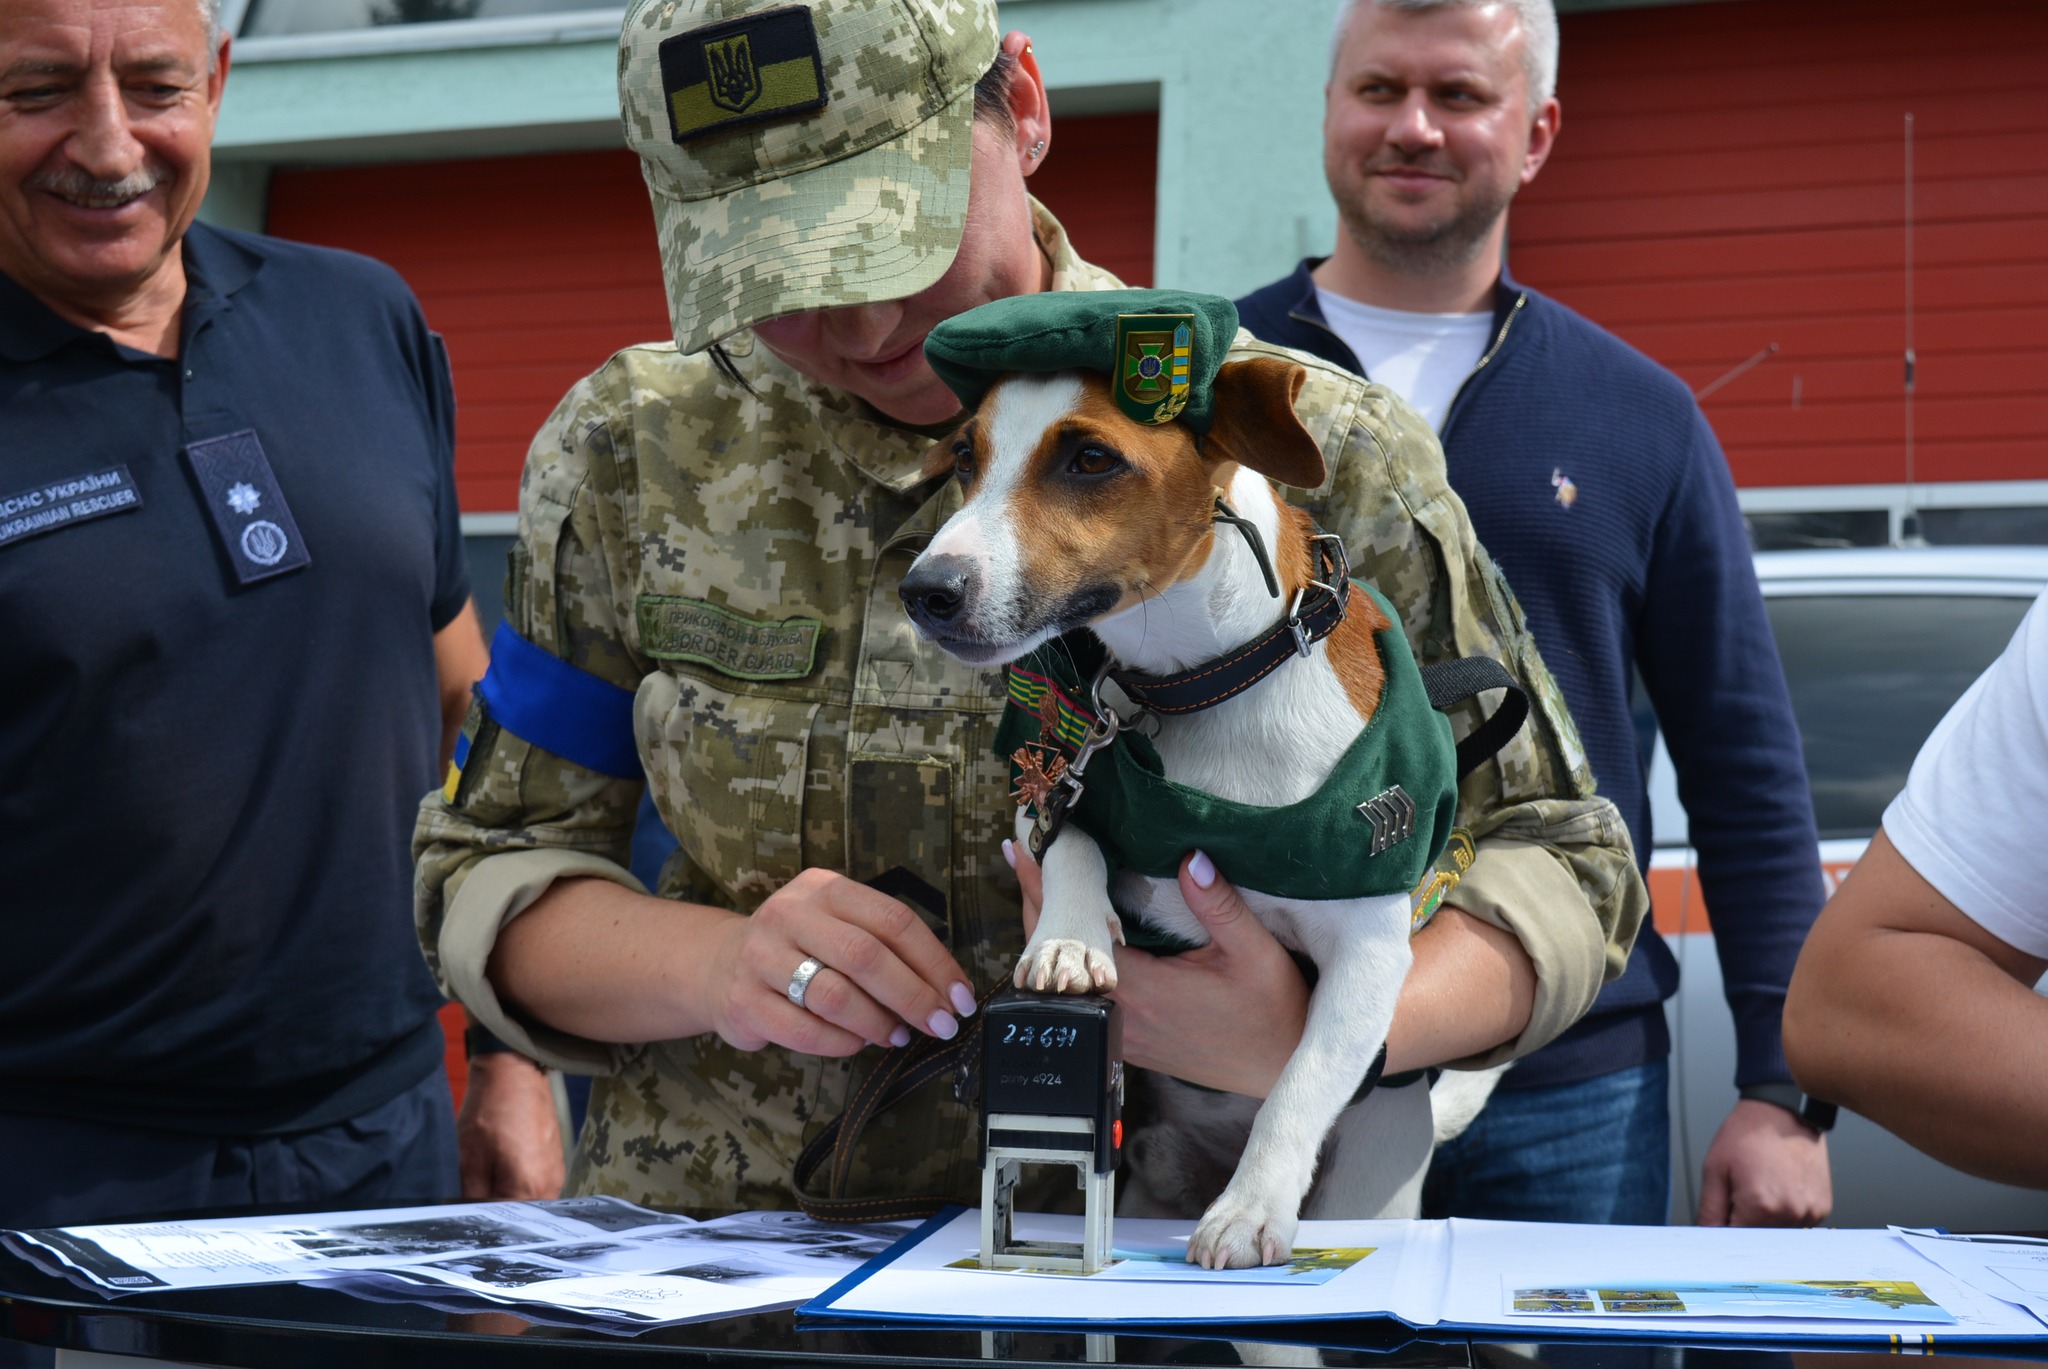
M 1016 851 L 1008 846 L 1006 851 Z M 1264 1098 L 1300 1043 L 1309 984 L 1229 881 L 1202 885 L 1182 863 L 1180 891 L 1210 943 L 1182 955 L 1116 951 L 1124 1057 L 1206 1088 Z M 1038 920 L 1038 867 L 1018 853 L 1024 924 Z M 1442 908 L 1411 945 L 1386 1070 L 1481 1055 L 1513 1041 L 1536 1002 L 1536 965 L 1509 932 Z M 1217 1023 L 1233 1023 L 1219 1033 Z

